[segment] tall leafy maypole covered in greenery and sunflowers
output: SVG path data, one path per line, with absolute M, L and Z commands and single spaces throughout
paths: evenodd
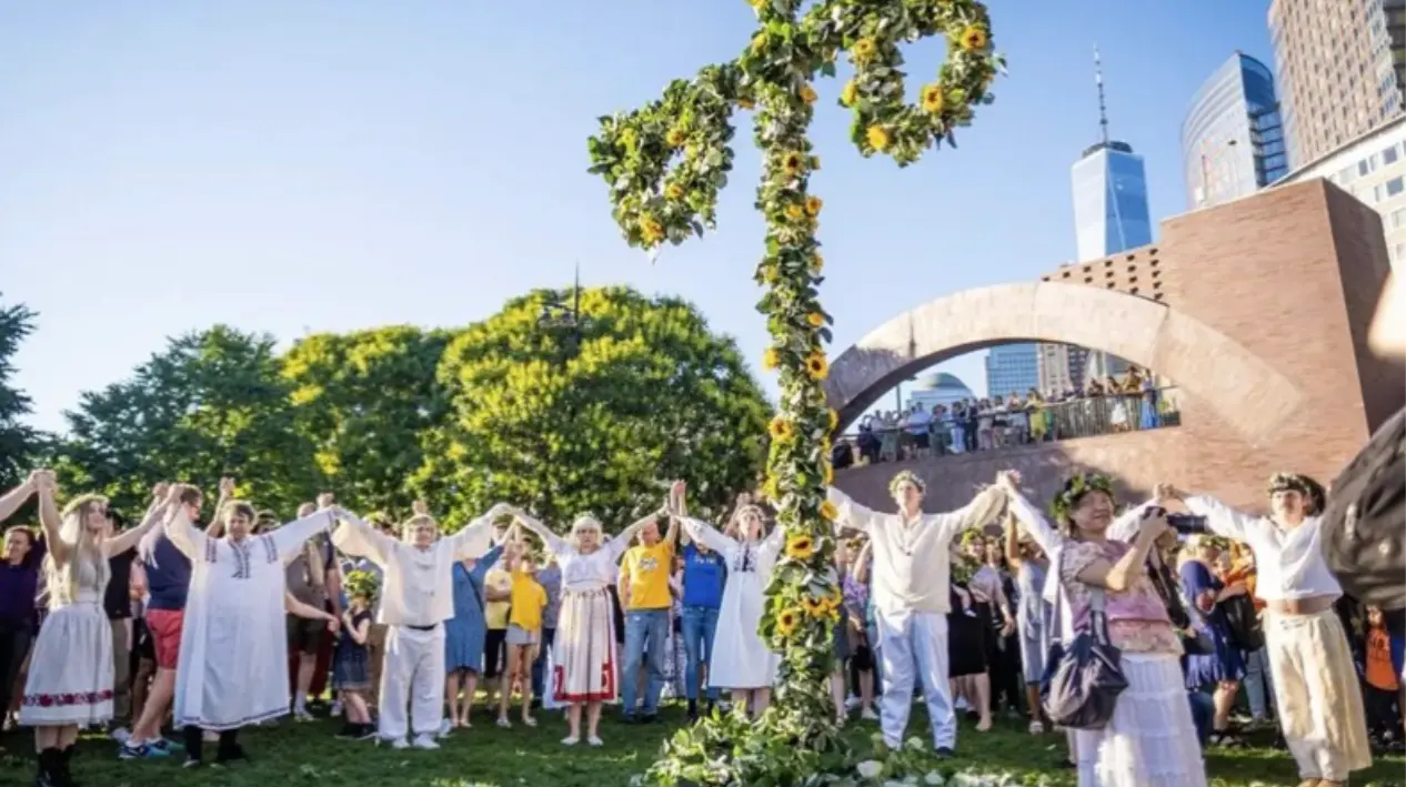
M 766 590 L 761 635 L 782 653 L 782 666 L 761 722 L 714 717 L 665 745 L 645 777 L 664 786 L 799 784 L 852 769 L 827 689 L 841 607 L 830 575 L 837 512 L 825 500 L 838 415 L 823 386 L 832 319 L 818 299 L 824 204 L 808 191 L 820 169 L 807 139 L 817 100 L 811 80 L 834 76 L 846 52 L 855 76 L 839 103 L 852 112 L 851 139 L 866 157 L 883 153 L 907 166 L 943 139 L 953 142 L 953 129 L 991 101 L 987 89 L 1004 67 L 976 0 L 820 0 L 804 14 L 801 0 L 749 4 L 761 24 L 735 60 L 669 83 L 662 98 L 634 112 L 602 117 L 589 141 L 591 171 L 609 184 L 624 239 L 651 253 L 716 226 L 717 195 L 733 169 L 734 110 L 755 110 L 763 159 L 756 205 L 766 218 L 766 252 L 755 278 L 765 287 L 758 309 L 772 336 L 762 363 L 778 371 L 782 391 L 765 493 L 786 548 Z M 948 41 L 946 62 L 918 104 L 908 104 L 898 46 L 938 34 Z

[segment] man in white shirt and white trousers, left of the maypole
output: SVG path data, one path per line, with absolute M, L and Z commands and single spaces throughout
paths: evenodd
M 494 520 L 508 513 L 499 503 L 454 535 L 439 538 L 439 524 L 423 502 L 402 526 L 396 541 L 346 510 L 332 542 L 352 557 L 381 566 L 381 610 L 387 624 L 385 666 L 381 672 L 378 734 L 396 749 L 437 749 L 434 735 L 444 713 L 444 621 L 454 617 L 454 564 L 482 557 L 494 535 Z M 409 717 L 406 707 L 409 705 Z

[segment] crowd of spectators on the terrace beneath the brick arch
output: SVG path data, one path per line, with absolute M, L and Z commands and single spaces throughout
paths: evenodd
M 1144 370 L 1091 379 L 1067 391 L 962 399 L 952 405 L 912 402 L 903 410 L 860 419 L 853 445 L 869 464 L 991 451 L 1052 440 L 1167 426 L 1175 402 Z

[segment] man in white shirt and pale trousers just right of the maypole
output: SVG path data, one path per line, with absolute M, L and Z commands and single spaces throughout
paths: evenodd
M 1007 492 L 1002 486 L 990 486 L 960 510 L 925 514 L 924 489 L 922 481 L 910 471 L 893 476 L 889 492 L 898 505 L 894 514 L 869 510 L 835 488 L 828 496 L 838 510 L 837 528 L 869 535 L 884 743 L 889 748 L 903 745 L 914 682 L 921 679 L 932 722 L 932 746 L 939 756 L 950 756 L 957 724 L 948 686 L 949 548 L 962 531 L 993 521 L 1005 505 Z

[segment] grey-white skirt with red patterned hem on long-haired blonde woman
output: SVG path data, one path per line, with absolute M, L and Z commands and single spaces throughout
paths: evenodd
M 30 656 L 20 724 L 59 727 L 112 718 L 112 627 L 96 600 L 44 618 Z

